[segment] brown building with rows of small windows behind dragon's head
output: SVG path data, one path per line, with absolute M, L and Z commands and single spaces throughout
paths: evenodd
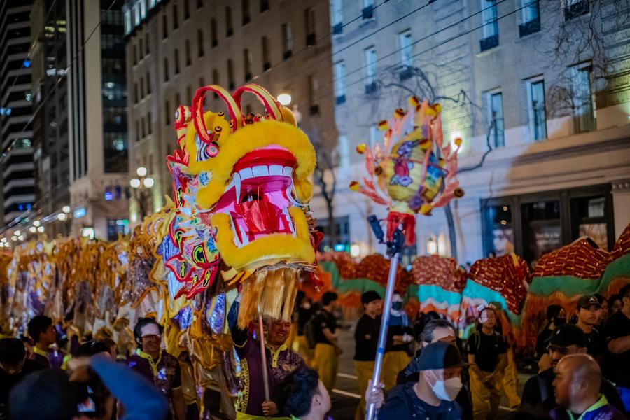
M 172 195 L 165 158 L 176 148 L 174 111 L 190 105 L 198 87 L 233 92 L 251 82 L 290 94 L 302 130 L 320 145 L 335 143 L 328 14 L 328 2 L 316 0 L 125 3 L 130 174 L 145 167 L 155 180 L 150 193 L 135 196 L 132 222 Z M 207 100 L 207 109 L 226 111 L 217 97 Z M 262 111 L 253 98 L 243 106 Z

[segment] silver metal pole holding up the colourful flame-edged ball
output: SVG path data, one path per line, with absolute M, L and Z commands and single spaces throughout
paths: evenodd
M 370 222 L 370 226 L 374 231 L 374 235 L 383 243 L 384 233 L 381 225 L 376 216 L 372 215 L 367 218 Z M 372 392 L 377 391 L 381 381 L 381 370 L 383 367 L 383 358 L 385 356 L 385 345 L 387 344 L 387 329 L 389 326 L 389 316 L 391 311 L 391 297 L 393 295 L 395 283 L 396 283 L 396 269 L 398 269 L 398 260 L 400 258 L 400 248 L 404 236 L 399 228 L 396 228 L 392 241 L 387 241 L 387 255 L 390 256 L 389 276 L 387 279 L 387 288 L 385 290 L 385 303 L 383 316 L 381 317 L 381 329 L 379 330 L 379 343 L 377 348 L 376 360 L 374 360 L 374 373 L 372 374 Z M 363 396 L 363 395 L 362 395 Z M 376 414 L 376 407 L 372 402 L 367 407 L 367 413 L 365 414 L 366 420 L 373 420 Z

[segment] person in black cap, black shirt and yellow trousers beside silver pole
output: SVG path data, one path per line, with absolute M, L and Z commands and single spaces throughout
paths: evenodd
M 374 360 L 379 339 L 379 329 L 381 327 L 381 314 L 383 312 L 383 300 L 381 295 L 374 290 L 367 290 L 361 295 L 363 304 L 363 315 L 356 323 L 354 330 L 354 367 L 356 369 L 359 395 L 361 400 L 356 407 L 355 420 L 365 419 L 365 391 L 367 383 L 374 371 Z

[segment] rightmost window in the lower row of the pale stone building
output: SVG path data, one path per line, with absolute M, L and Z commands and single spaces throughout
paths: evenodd
M 593 68 L 590 64 L 571 67 L 571 99 L 575 132 L 595 130 Z

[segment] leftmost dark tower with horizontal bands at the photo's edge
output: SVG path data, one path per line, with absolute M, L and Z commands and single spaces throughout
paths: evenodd
M 0 3 L 0 139 L 3 225 L 19 223 L 35 202 L 29 45 L 32 1 Z

